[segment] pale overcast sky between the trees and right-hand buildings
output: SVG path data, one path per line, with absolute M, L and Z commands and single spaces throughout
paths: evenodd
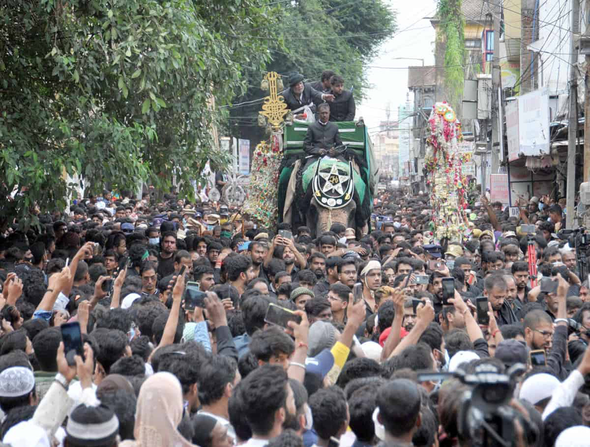
M 401 57 L 423 58 L 424 65 L 434 65 L 434 28 L 424 17 L 436 11 L 434 0 L 389 2 L 396 9 L 398 32 L 382 45 L 379 55 L 371 62 L 368 80 L 371 88 L 367 98 L 357 107 L 356 118 L 363 117 L 368 127 L 385 120 L 385 109 L 391 103 L 391 120 L 396 119 L 398 106 L 405 104 L 408 92 L 408 65 L 422 65 L 419 60 L 394 59 Z M 377 67 L 397 67 L 387 70 Z M 410 100 L 412 101 L 410 94 Z

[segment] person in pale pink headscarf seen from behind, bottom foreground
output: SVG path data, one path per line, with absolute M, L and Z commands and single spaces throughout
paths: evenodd
M 171 373 L 156 373 L 139 390 L 135 412 L 135 441 L 120 447 L 193 447 L 176 429 L 183 412 L 182 388 Z

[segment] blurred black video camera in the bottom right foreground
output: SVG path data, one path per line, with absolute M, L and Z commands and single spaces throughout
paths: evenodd
M 444 380 L 454 377 L 470 386 L 461 397 L 457 418 L 460 436 L 476 447 L 516 446 L 514 421 L 518 420 L 525 433 L 527 445 L 534 445 L 538 430 L 522 414 L 509 405 L 513 397 L 516 377 L 526 372 L 517 363 L 504 373 L 494 364 L 479 364 L 473 373 L 457 369 L 454 373 L 419 373 L 419 382 Z M 439 404 L 440 405 L 440 404 Z

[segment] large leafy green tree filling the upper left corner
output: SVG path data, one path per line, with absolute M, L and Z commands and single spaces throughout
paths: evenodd
M 258 0 L 0 2 L 2 215 L 63 207 L 64 172 L 190 193 L 227 164 L 215 110 L 245 91 L 242 64 L 269 60 L 276 18 Z

